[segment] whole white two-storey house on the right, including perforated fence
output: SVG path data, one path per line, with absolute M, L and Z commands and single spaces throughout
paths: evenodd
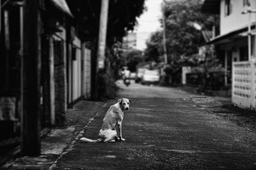
M 202 12 L 220 17 L 220 35 L 214 44 L 226 69 L 225 84 L 232 87 L 232 103 L 255 110 L 256 2 L 205 0 Z M 254 10 L 254 11 L 253 11 Z

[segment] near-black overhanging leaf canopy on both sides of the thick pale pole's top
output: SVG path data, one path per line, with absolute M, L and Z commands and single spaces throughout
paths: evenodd
M 101 0 L 67 0 L 74 19 L 80 23 L 79 34 L 85 41 L 99 34 Z M 143 10 L 145 0 L 111 0 L 108 14 L 108 46 L 122 39 L 137 24 L 136 18 Z

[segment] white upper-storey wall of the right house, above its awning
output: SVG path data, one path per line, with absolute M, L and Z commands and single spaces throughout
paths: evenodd
M 220 32 L 227 34 L 228 32 L 236 31 L 243 27 L 248 26 L 248 14 L 241 14 L 242 11 L 247 10 L 247 6 L 243 6 L 243 0 L 230 0 L 232 1 L 232 13 L 225 16 L 225 0 L 221 0 L 221 12 L 220 12 Z M 250 0 L 251 9 L 256 9 L 256 3 L 254 0 Z M 252 21 L 255 21 L 256 14 L 252 13 Z

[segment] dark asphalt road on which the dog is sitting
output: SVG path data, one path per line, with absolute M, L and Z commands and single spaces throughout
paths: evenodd
M 256 135 L 196 106 L 177 89 L 132 83 L 120 97 L 125 111 L 123 142 L 77 141 L 54 169 L 256 169 Z M 195 96 L 195 95 L 194 95 Z M 86 127 L 97 139 L 108 101 Z M 84 122 L 87 124 L 88 122 Z

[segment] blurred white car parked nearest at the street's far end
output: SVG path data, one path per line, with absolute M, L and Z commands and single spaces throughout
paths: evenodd
M 159 83 L 160 81 L 160 75 L 159 71 L 154 69 L 154 70 L 148 70 L 146 69 L 144 71 L 143 76 L 141 77 L 141 83 L 146 84 L 146 83 Z

